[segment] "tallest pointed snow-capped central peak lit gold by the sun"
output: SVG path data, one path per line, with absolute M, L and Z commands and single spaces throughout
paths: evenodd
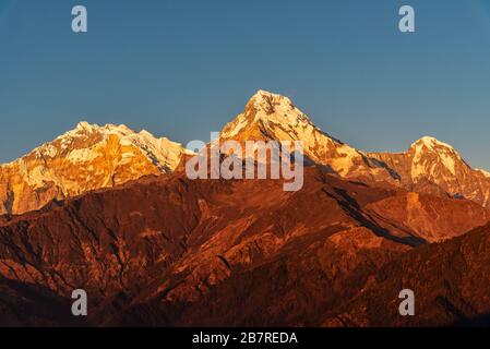
M 342 177 L 396 182 L 379 161 L 316 128 L 289 98 L 264 91 L 259 91 L 243 113 L 223 129 L 220 139 L 240 143 L 302 141 L 303 154 L 309 160 L 324 165 Z

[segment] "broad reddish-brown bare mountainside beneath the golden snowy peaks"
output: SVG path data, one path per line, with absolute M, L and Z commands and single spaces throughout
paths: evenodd
M 421 195 L 414 208 L 406 195 L 315 167 L 298 192 L 277 180 L 142 179 L 3 217 L 0 288 L 31 285 L 40 324 L 70 323 L 43 317 L 33 294 L 58 311 L 83 288 L 91 325 L 318 325 L 386 263 L 488 218 L 469 201 Z M 466 225 L 447 228 L 450 216 Z M 3 324 L 28 323 L 2 306 Z

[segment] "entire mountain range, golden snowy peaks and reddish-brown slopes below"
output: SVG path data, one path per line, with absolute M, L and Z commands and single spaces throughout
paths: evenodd
M 361 152 L 264 91 L 219 136 L 302 141 L 303 188 L 190 180 L 182 145 L 86 122 L 0 166 L 0 324 L 488 323 L 490 174 L 452 146 Z

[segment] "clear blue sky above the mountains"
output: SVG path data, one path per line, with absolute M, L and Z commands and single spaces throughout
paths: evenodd
M 259 88 L 360 149 L 433 135 L 490 169 L 490 1 L 0 0 L 0 161 L 80 120 L 208 140 Z

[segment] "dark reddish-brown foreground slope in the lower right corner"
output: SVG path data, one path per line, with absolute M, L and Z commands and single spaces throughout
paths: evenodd
M 403 255 L 363 291 L 331 311 L 326 326 L 490 325 L 490 226 Z M 415 292 L 415 316 L 401 316 L 398 292 Z

